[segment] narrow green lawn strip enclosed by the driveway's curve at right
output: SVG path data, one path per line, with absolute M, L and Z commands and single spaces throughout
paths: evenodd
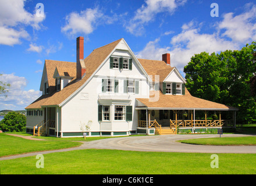
M 178 142 L 197 145 L 256 145 L 256 137 L 221 137 L 180 140 Z

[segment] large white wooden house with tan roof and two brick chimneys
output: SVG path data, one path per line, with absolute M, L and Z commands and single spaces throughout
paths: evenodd
M 77 38 L 76 63 L 45 60 L 42 96 L 26 108 L 27 133 L 41 129 L 46 135 L 78 137 L 81 126 L 90 124 L 89 136 L 170 134 L 176 127 L 230 124 L 220 111 L 237 109 L 191 96 L 169 53 L 162 60 L 137 59 L 122 38 L 84 58 L 83 40 Z M 203 110 L 205 119 L 195 120 L 195 110 Z M 219 118 L 207 119 L 210 110 Z

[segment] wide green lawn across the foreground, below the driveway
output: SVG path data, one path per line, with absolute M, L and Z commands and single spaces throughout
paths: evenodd
M 86 149 L 0 161 L 1 174 L 255 174 L 255 154 L 219 154 L 211 168 L 209 153 L 136 152 Z

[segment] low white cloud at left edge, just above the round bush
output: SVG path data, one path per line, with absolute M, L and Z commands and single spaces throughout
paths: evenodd
M 15 76 L 14 73 L 3 74 L 0 76 L 0 80 L 6 83 L 10 83 L 7 98 L 5 98 L 4 95 L 0 95 L 0 110 L 24 109 L 41 95 L 40 91 L 24 90 L 24 88 L 27 86 L 26 78 Z

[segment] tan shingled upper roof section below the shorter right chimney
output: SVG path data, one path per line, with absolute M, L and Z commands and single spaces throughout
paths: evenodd
M 159 81 L 163 82 L 165 78 L 174 69 L 163 60 L 150 60 L 150 59 L 138 59 L 148 75 L 152 76 L 152 81 L 155 81 L 155 76 L 159 75 Z

